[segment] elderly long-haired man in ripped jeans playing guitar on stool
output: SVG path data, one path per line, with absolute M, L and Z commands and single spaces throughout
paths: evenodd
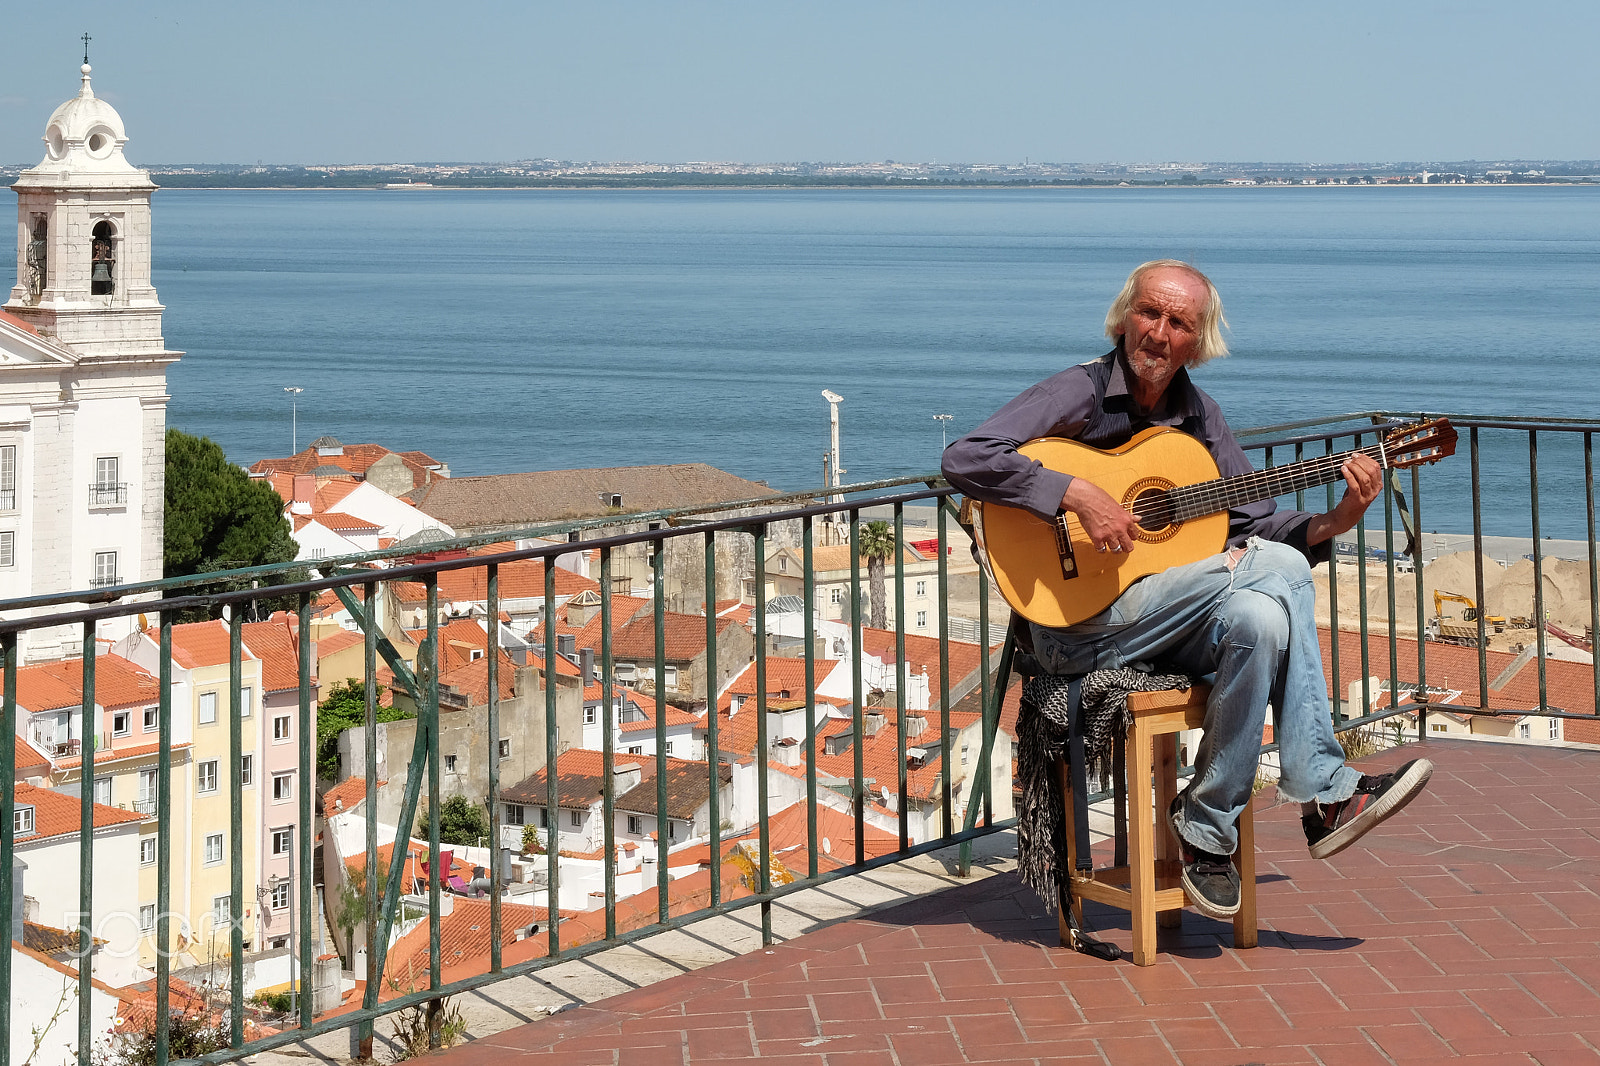
M 1173 259 L 1139 266 L 1106 315 L 1106 335 L 1117 347 L 1038 383 L 952 443 L 944 453 L 946 477 L 981 504 L 1000 504 L 986 514 L 1014 509 L 1032 528 L 1056 528 L 1067 546 L 1061 557 L 1067 578 L 1088 575 L 1083 562 L 1104 560 L 1115 562 L 1115 568 L 1101 565 L 1115 579 L 1118 568 L 1160 551 L 1150 528 L 1171 522 L 1171 512 L 1144 515 L 1141 523 L 1130 496 L 1118 501 L 1086 475 L 1050 469 L 1026 445 L 1054 437 L 1117 450 L 1141 431 L 1168 426 L 1205 447 L 1222 474 L 1211 483 L 1251 480 L 1253 467 L 1222 411 L 1189 379 L 1190 367 L 1227 354 L 1224 325 L 1222 301 L 1200 271 Z M 1035 618 L 1035 655 L 1053 674 L 1152 661 L 1195 677 L 1214 674 L 1194 779 L 1170 813 L 1184 888 L 1210 917 L 1238 911 L 1238 872 L 1229 856 L 1238 847 L 1235 823 L 1251 797 L 1269 706 L 1280 752 L 1278 792 L 1302 805 L 1315 858 L 1344 850 L 1405 807 L 1434 770 L 1418 759 L 1392 773 L 1363 775 L 1344 763 L 1333 733 L 1309 563 L 1326 560 L 1333 536 L 1360 522 L 1382 490 L 1382 467 L 1371 453 L 1352 451 L 1334 463 L 1317 483 L 1342 477 L 1346 490 L 1326 514 L 1280 511 L 1270 496 L 1224 504 L 1226 527 L 1219 512 L 1211 541 L 1226 535 L 1224 551 L 1146 570 L 1125 589 L 1114 586 L 1115 599 L 1099 613 L 1051 616 L 1070 624 L 1040 624 L 1024 611 Z M 1075 560 L 1074 538 L 1099 555 Z M 1064 587 L 1082 586 L 1069 581 Z M 1005 581 L 1002 589 L 1008 591 Z

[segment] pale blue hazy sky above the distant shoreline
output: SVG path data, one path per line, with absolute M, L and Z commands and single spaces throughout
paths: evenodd
M 94 86 L 134 162 L 1600 157 L 1600 5 L 32 3 L 0 162 Z

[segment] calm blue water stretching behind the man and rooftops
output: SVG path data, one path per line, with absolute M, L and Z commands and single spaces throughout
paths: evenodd
M 1595 416 L 1597 208 L 1597 189 L 1474 187 L 163 190 L 155 283 L 187 352 L 170 421 L 238 463 L 288 453 L 301 386 L 302 447 L 421 448 L 458 475 L 706 461 L 806 488 L 822 389 L 845 395 L 848 479 L 931 471 L 934 413 L 958 434 L 1106 351 L 1106 304 L 1157 256 L 1222 291 L 1234 355 L 1198 381 L 1238 427 Z M 1525 531 L 1526 445 L 1485 442 L 1491 525 Z M 1574 456 L 1541 440 L 1546 535 L 1582 528 Z M 1453 466 L 1427 528 L 1470 528 Z

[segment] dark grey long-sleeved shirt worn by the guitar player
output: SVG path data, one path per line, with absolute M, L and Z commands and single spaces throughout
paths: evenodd
M 1024 507 L 1046 522 L 1061 512 L 1072 474 L 1050 471 L 1018 447 L 1038 437 L 1064 437 L 1094 448 L 1117 448 L 1150 426 L 1173 426 L 1198 439 L 1216 459 L 1222 477 L 1254 467 L 1227 427 L 1222 410 L 1179 370 L 1154 411 L 1141 413 L 1128 389 L 1122 349 L 1107 352 L 1022 392 L 989 421 L 944 450 L 944 475 L 963 493 L 984 503 Z M 1312 562 L 1328 559 L 1331 541 L 1306 544 L 1304 511 L 1278 511 L 1270 499 L 1229 511 L 1227 543 L 1237 547 L 1251 536 L 1283 541 Z

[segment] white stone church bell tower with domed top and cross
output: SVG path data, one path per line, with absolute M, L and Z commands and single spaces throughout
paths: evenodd
M 150 174 L 90 86 L 50 115 L 18 195 L 0 307 L 0 599 L 162 576 L 166 367 L 150 285 Z M 3 613 L 3 611 L 0 611 Z M 110 634 L 120 635 L 120 634 Z M 72 653 L 34 634 L 27 659 Z

